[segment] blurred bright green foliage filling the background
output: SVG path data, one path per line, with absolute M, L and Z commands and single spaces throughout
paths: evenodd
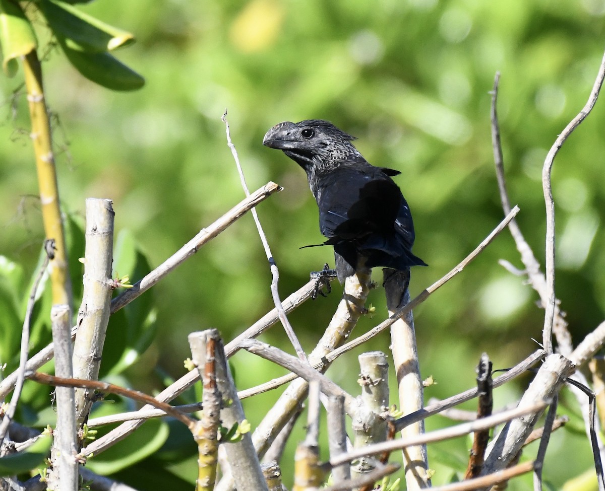
M 602 0 L 100 0 L 77 8 L 136 34 L 136 44 L 120 56 L 143 74 L 146 85 L 128 94 L 99 88 L 36 25 L 44 40 L 62 206 L 81 217 L 86 197 L 111 198 L 116 230 L 130 231 L 151 267 L 243 198 L 220 120 L 228 108 L 250 188 L 269 180 L 284 186 L 258 207 L 283 297 L 306 282 L 310 270 L 332 262 L 332 251 L 299 250 L 321 240 L 315 203 L 304 172 L 261 141 L 278 122 L 310 118 L 331 120 L 359 137 L 368 161 L 402 171 L 396 180 L 414 213 L 414 253 L 430 264 L 413 271 L 411 293 L 418 293 L 503 216 L 489 129 L 495 71 L 502 73 L 499 115 L 508 190 L 521 208 L 518 223 L 543 262 L 541 167 L 597 75 L 605 47 Z M 41 216 L 27 102 L 18 77 L 0 79 L 0 89 L 0 252 L 19 264 L 21 278 L 38 261 Z M 605 309 L 604 124 L 599 102 L 561 149 L 553 173 L 557 296 L 575 342 L 603 320 Z M 504 368 L 535 350 L 532 338 L 541 339 L 537 295 L 523 278 L 506 272 L 500 258 L 520 266 L 507 233 L 415 311 L 421 369 L 437 381 L 427 399 L 473 386 L 482 351 Z M 132 282 L 137 279 L 131 274 Z M 139 299 L 154 299 L 158 333 L 129 369 L 132 385 L 159 387 L 158 367 L 180 376 L 189 331 L 217 327 L 229 340 L 252 324 L 272 308 L 269 284 L 269 265 L 252 218 L 245 216 Z M 336 287 L 329 298 L 307 302 L 290 316 L 308 350 L 338 296 Z M 360 323 L 359 332 L 387 315 L 381 288 L 370 302 L 376 314 Z M 10 332 L 8 324 L 0 325 Z M 110 326 L 108 343 L 112 336 Z M 280 327 L 264 339 L 288 348 Z M 364 350 L 388 351 L 389 342 L 384 334 Z M 280 373 L 244 353 L 233 363 L 240 388 Z M 329 375 L 357 393 L 356 377 L 349 376 L 356 369 L 350 354 Z M 514 400 L 527 382 L 497 389 L 496 403 Z M 275 398 L 264 394 L 246 405 L 253 426 Z M 577 411 L 572 398 L 563 397 L 563 406 Z M 427 424 L 448 422 L 434 417 Z M 469 447 L 464 439 L 431 446 L 434 483 L 464 469 Z M 590 469 L 591 459 L 586 437 L 560 431 L 552 437 L 545 478 L 559 488 Z M 174 461 L 171 466 L 180 478 L 191 472 Z M 531 477 L 510 489 L 531 489 Z

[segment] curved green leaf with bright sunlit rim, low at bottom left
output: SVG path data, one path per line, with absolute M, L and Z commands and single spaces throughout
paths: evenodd
M 105 430 L 105 428 L 103 428 Z M 113 474 L 154 454 L 168 438 L 168 424 L 149 420 L 125 440 L 90 458 L 87 467 L 101 475 Z M 101 431 L 97 438 L 100 438 Z

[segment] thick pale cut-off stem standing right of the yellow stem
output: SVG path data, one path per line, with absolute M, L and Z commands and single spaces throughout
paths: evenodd
M 86 200 L 84 294 L 78 312 L 73 371 L 76 379 L 97 380 L 110 319 L 114 211 L 111 200 Z M 92 405 L 90 389 L 76 389 L 76 417 L 81 425 Z

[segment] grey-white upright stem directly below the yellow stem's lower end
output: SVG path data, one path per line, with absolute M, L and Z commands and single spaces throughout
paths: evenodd
M 54 305 L 50 318 L 53 325 L 53 339 L 56 346 L 54 373 L 57 377 L 73 377 L 71 367 L 71 316 L 68 305 Z M 48 475 L 48 489 L 77 491 L 78 462 L 77 423 L 74 405 L 74 388 L 57 387 L 57 428 L 54 433 L 52 470 Z

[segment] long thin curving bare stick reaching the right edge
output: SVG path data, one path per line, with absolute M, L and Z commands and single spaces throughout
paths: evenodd
M 544 192 L 544 201 L 546 204 L 546 285 L 548 287 L 548 304 L 546 305 L 546 314 L 544 316 L 544 330 L 542 342 L 546 353 L 552 353 L 552 323 L 555 314 L 555 202 L 552 199 L 551 174 L 555 156 L 567 140 L 572 131 L 580 125 L 581 122 L 590 114 L 597 102 L 597 97 L 601 91 L 601 85 L 605 79 L 605 54 L 601 60 L 601 65 L 597 74 L 597 79 L 592 86 L 590 96 L 586 105 L 565 127 L 563 132 L 558 135 L 555 143 L 546 155 L 544 167 L 542 169 L 542 189 Z

